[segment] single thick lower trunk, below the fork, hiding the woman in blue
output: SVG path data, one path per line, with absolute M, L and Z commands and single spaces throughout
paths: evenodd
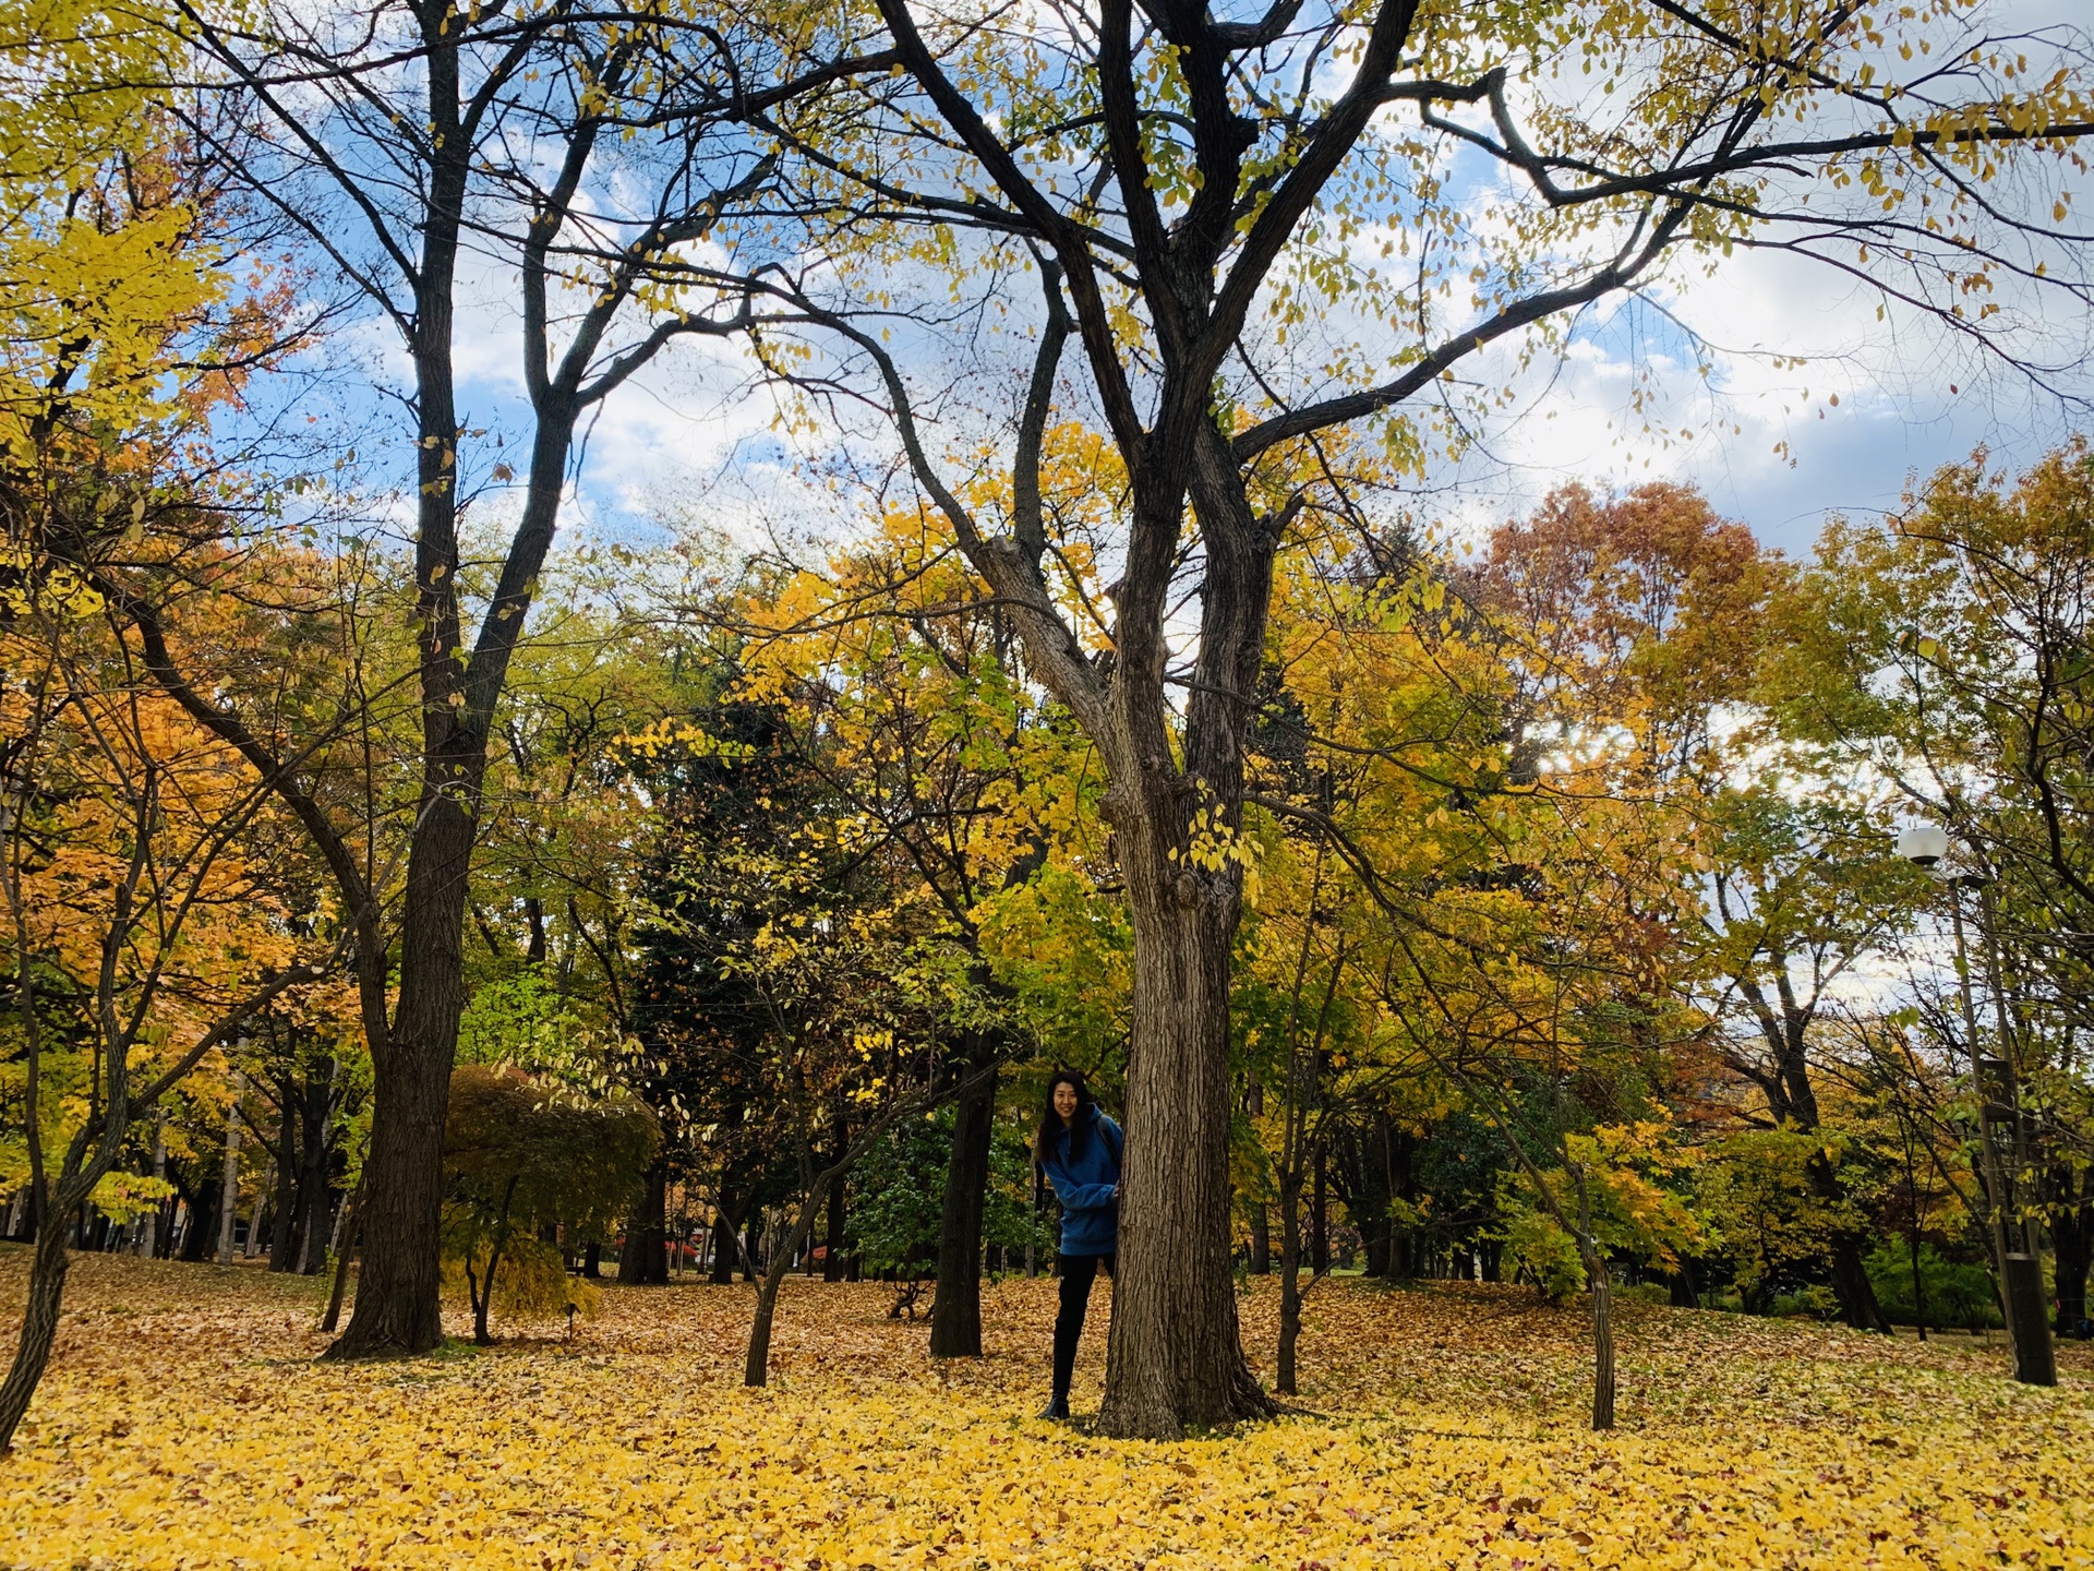
M 1122 809 L 1135 926 L 1118 1278 L 1097 1426 L 1177 1439 L 1185 1424 L 1267 1416 L 1244 1362 L 1229 1238 L 1229 945 L 1238 901 L 1168 857 L 1175 783 Z M 1171 836 L 1175 838 L 1175 836 Z

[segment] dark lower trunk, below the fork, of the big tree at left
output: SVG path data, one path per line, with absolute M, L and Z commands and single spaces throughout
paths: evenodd
M 431 773 L 450 769 L 433 760 Z M 438 1303 L 444 1114 L 465 1010 L 473 821 L 442 788 L 425 790 L 423 811 L 408 853 L 400 1010 L 373 1075 L 356 1309 L 327 1349 L 331 1359 L 427 1353 L 444 1341 Z

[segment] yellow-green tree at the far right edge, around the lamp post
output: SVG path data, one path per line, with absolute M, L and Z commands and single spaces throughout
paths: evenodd
M 1979 1204 L 2012 1232 L 2048 1225 L 2058 1330 L 2084 1324 L 2094 1253 L 2081 938 L 2094 928 L 2090 509 L 2094 455 L 2077 440 L 2012 486 L 1977 455 L 1880 524 L 1834 522 L 1780 607 L 1786 639 L 1767 683 L 1786 735 L 1891 781 L 1906 809 L 1950 827 L 1958 869 L 1991 882 L 1977 903 L 1977 974 L 1958 978 L 1966 1008 L 1933 1020 L 1960 1066 L 2004 1062 L 2031 1112 L 2006 1127 L 2004 1192 L 1985 1177 Z M 1962 894 L 1952 886 L 1947 899 Z M 1968 1008 L 1973 991 L 1996 1008 Z M 1998 1102 L 1975 1079 L 1968 1096 Z

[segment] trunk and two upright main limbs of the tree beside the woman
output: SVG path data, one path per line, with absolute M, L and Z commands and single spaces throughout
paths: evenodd
M 1242 867 L 1250 693 L 1265 651 L 1275 534 L 1254 517 L 1212 394 L 1173 394 L 1196 448 L 1189 496 L 1206 551 L 1200 656 L 1185 698 L 1183 773 L 1171 760 L 1160 610 L 1187 492 L 1168 467 L 1135 496 L 1118 668 L 1112 681 L 1112 823 L 1135 934 L 1127 1049 L 1120 1267 L 1097 1426 L 1177 1439 L 1187 1424 L 1271 1414 L 1235 1322 L 1229 1186 L 1229 951 Z

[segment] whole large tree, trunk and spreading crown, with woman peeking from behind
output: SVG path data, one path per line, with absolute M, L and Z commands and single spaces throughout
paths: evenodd
M 863 385 L 863 369 L 877 388 L 921 496 L 1101 754 L 1135 928 L 1101 1426 L 1175 1437 L 1267 1412 L 1229 1269 L 1242 865 L 1200 846 L 1242 827 L 1275 559 L 1332 490 L 1319 438 L 1361 427 L 1416 461 L 1413 411 L 1470 360 L 1495 383 L 1489 346 L 1554 354 L 1583 306 L 1656 283 L 1675 256 L 1740 245 L 1824 256 L 1989 341 L 1958 289 L 2002 276 L 2046 222 L 1993 201 L 1993 176 L 2040 182 L 2048 214 L 2088 117 L 2069 69 L 2037 67 L 2052 86 L 2035 92 L 2008 75 L 2021 40 L 1985 42 L 1954 88 L 1926 63 L 1912 80 L 1887 71 L 1914 44 L 1962 59 L 1975 40 L 1960 8 L 1889 34 L 1847 6 L 1774 17 L 1671 0 L 1485 17 L 1288 0 L 1248 21 L 1166 4 L 1141 23 L 1104 0 L 1016 36 L 965 4 L 879 0 L 879 17 L 903 73 L 867 82 L 863 138 L 781 138 L 808 207 L 850 214 L 833 266 L 766 287 L 836 350 L 802 385 Z M 2027 48 L 2052 59 L 2042 40 Z M 1581 96 L 1587 71 L 1617 86 L 1604 115 Z M 1455 153 L 1495 163 L 1491 224 L 1447 180 Z M 1399 245 L 1405 264 L 1384 270 Z M 1026 392 L 997 396 L 1016 432 L 995 505 L 946 478 L 974 467 L 980 421 L 946 452 L 882 337 L 907 308 L 909 264 L 944 258 L 984 281 L 978 310 L 938 339 L 955 352 L 984 314 L 1016 310 L 1005 285 L 1037 258 L 1030 379 L 999 371 Z M 913 320 L 936 337 L 955 312 L 942 279 L 934 295 Z M 1110 442 L 1101 480 L 1124 486 L 1108 605 L 1068 589 L 1041 509 L 1051 415 L 1076 398 L 1060 383 L 1070 339 L 1085 413 Z

